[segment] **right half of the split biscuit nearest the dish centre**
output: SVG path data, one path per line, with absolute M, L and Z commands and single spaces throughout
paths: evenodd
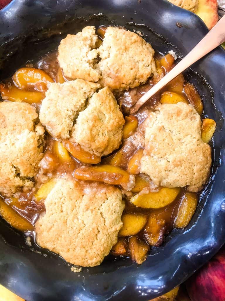
M 124 123 L 119 105 L 106 87 L 93 94 L 86 109 L 79 113 L 70 140 L 85 151 L 105 156 L 120 146 Z

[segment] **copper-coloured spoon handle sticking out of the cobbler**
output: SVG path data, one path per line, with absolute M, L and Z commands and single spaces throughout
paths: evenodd
M 161 90 L 172 79 L 190 67 L 193 63 L 212 51 L 225 41 L 225 15 L 219 22 L 207 33 L 207 35 L 172 69 L 167 73 L 155 86 L 144 94 L 131 108 L 134 114 L 137 110 L 156 92 Z

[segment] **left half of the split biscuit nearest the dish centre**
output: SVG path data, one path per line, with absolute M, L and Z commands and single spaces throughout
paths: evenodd
M 54 138 L 69 138 L 74 119 L 100 85 L 82 79 L 52 83 L 42 101 L 40 121 Z

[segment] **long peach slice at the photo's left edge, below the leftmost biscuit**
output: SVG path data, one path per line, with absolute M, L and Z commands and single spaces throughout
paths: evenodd
M 0 215 L 13 228 L 19 231 L 33 231 L 34 226 L 25 217 L 19 215 L 10 205 L 7 205 L 3 200 L 0 200 Z

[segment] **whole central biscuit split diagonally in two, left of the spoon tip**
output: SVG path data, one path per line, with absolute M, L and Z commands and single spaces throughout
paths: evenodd
M 54 138 L 70 138 L 92 154 L 103 156 L 122 140 L 123 114 L 109 88 L 82 79 L 52 83 L 40 110 L 41 123 Z

